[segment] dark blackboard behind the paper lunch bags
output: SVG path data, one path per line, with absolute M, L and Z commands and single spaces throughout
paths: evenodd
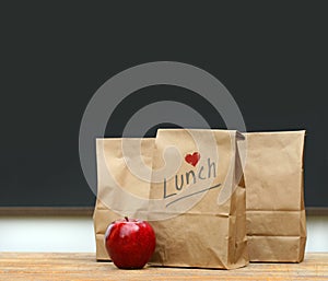
M 328 207 L 324 3 L 2 1 L 0 207 L 93 206 L 79 162 L 83 112 L 110 77 L 159 60 L 218 78 L 248 131 L 306 129 L 306 206 Z M 157 99 L 189 104 L 224 128 L 196 94 L 152 86 L 120 104 L 106 137 L 119 137 L 136 110 Z

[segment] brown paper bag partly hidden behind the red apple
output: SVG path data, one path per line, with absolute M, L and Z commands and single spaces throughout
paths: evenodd
M 126 155 L 122 144 L 126 147 Z M 97 260 L 109 260 L 104 235 L 110 222 L 124 215 L 147 219 L 153 145 L 154 139 L 96 140 L 97 200 L 93 221 Z M 140 155 L 142 159 L 139 159 Z M 148 166 L 149 175 L 148 171 L 133 173 L 128 166 L 131 163 L 138 167 L 143 164 Z

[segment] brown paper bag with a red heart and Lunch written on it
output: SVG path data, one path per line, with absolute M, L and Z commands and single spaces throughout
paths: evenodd
M 247 265 L 245 186 L 237 132 L 159 130 L 150 219 L 152 265 L 238 268 Z

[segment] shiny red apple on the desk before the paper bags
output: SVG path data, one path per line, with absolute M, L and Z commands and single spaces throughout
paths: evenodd
M 148 222 L 127 216 L 110 223 L 105 233 L 107 253 L 118 268 L 143 268 L 155 244 L 155 233 Z

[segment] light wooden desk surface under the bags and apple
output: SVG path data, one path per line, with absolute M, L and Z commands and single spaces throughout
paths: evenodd
M 328 280 L 328 253 L 302 264 L 250 264 L 234 270 L 154 268 L 120 270 L 94 254 L 0 253 L 0 280 Z

